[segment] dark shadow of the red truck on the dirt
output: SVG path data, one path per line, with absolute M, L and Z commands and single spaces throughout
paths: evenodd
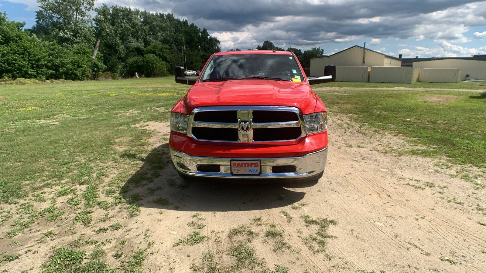
M 143 161 L 143 166 L 126 180 L 120 194 L 141 207 L 215 212 L 284 207 L 301 201 L 306 194 L 287 187 L 309 187 L 316 183 L 187 181 L 174 170 L 168 144 L 153 149 L 143 159 L 128 158 Z

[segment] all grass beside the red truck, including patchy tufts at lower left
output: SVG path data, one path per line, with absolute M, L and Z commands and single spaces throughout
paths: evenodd
M 484 90 L 482 84 L 331 83 L 315 89 L 328 107 L 329 119 L 334 113 L 344 114 L 362 124 L 365 133 L 388 131 L 419 147 L 397 153 L 446 156 L 454 163 L 486 168 L 486 93 L 346 89 Z M 319 89 L 325 86 L 344 89 Z M 141 181 L 159 176 L 158 171 L 141 170 L 144 162 L 158 170 L 170 163 L 167 154 L 147 156 L 154 154 L 147 148 L 153 147 L 147 141 L 153 132 L 143 122 L 168 121 L 171 107 L 188 87 L 175 84 L 173 77 L 0 85 L 0 204 L 16 205 L 15 210 L 0 206 L 0 240 L 10 240 L 9 245 L 21 248 L 22 240 L 17 238 L 26 230 L 38 230 L 37 244 L 54 239 L 52 230 L 41 233 L 37 228 L 41 217 L 55 226 L 66 215 L 75 215 L 68 232 L 76 225 L 89 227 L 96 213 L 100 215 L 97 223 L 103 224 L 113 217 L 110 212 L 115 208 L 126 217 L 137 216 L 140 208 L 136 202 L 143 197 L 129 195 L 126 187 L 139 187 Z M 163 198 L 154 202 L 168 204 Z M 12 223 L 3 225 L 7 221 Z M 121 222 L 101 226 L 96 234 L 121 232 L 122 226 Z M 122 239 L 120 248 L 125 243 Z M 151 242 L 144 240 L 144 244 L 145 248 L 137 246 L 131 255 L 125 253 L 122 271 L 139 272 L 144 256 L 150 253 Z M 81 246 L 92 247 L 87 253 Z M 100 246 L 103 241 L 81 236 L 69 248 L 55 248 L 54 256 L 44 262 L 43 272 L 59 270 L 56 258 L 65 261 L 62 268 L 76 268 L 77 272 L 117 272 L 103 262 L 106 253 Z M 4 254 L 3 262 L 30 251 Z M 113 255 L 117 257 L 118 251 Z

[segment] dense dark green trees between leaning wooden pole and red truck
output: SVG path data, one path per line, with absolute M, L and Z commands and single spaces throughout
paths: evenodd
M 173 14 L 149 13 L 103 4 L 95 9 L 96 38 L 111 72 L 126 73 L 123 64 L 136 56 L 154 54 L 168 66 L 200 70 L 209 56 L 221 51 L 220 41 Z M 184 64 L 182 50 L 185 49 Z M 170 69 L 172 71 L 172 69 Z M 141 70 L 137 71 L 142 73 Z

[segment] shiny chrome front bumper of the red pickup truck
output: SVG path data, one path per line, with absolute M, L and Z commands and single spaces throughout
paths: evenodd
M 191 156 L 171 148 L 171 159 L 177 171 L 193 177 L 219 177 L 235 179 L 271 179 L 271 178 L 307 178 L 324 171 L 328 157 L 328 148 L 300 157 L 275 158 L 226 158 Z M 260 175 L 232 175 L 230 160 L 260 160 Z M 219 165 L 219 172 L 197 171 L 198 165 Z M 295 172 L 272 172 L 273 166 L 295 166 Z

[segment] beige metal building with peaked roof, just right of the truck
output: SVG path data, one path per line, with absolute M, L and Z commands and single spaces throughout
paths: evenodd
M 364 47 L 354 46 L 327 57 L 311 59 L 311 76 L 324 76 L 326 65 L 335 65 L 336 67 L 400 67 L 401 59 Z

